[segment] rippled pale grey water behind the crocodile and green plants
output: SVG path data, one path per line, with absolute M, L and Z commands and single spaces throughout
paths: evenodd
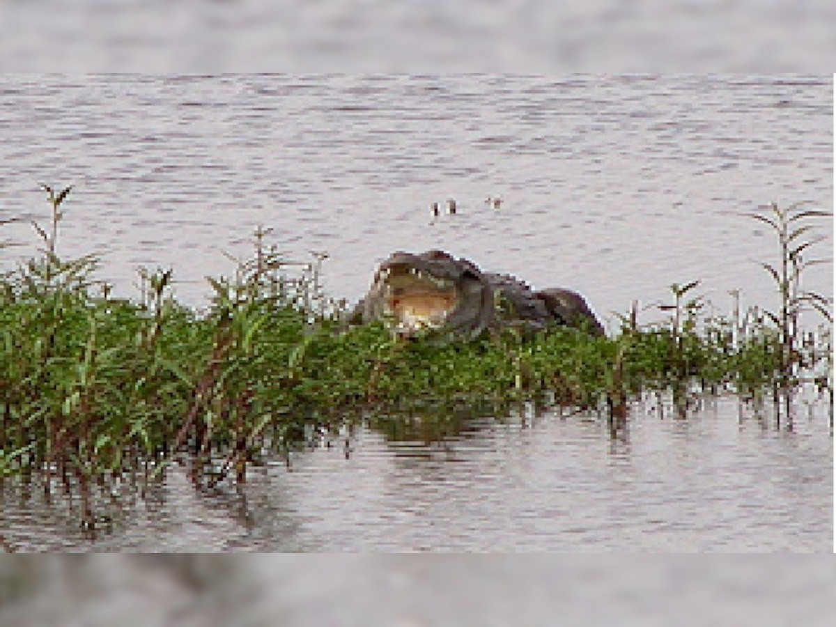
M 694 279 L 723 311 L 737 288 L 774 306 L 757 262 L 777 245 L 737 212 L 833 205 L 832 93 L 815 77 L 5 78 L 0 217 L 44 219 L 38 182 L 76 184 L 59 250 L 101 253 L 126 295 L 135 268 L 171 266 L 193 303 L 263 223 L 289 257 L 329 252 L 325 285 L 349 300 L 395 249 L 441 247 L 579 289 L 606 319 Z M 447 198 L 461 215 L 430 226 Z M 28 222 L 4 232 L 33 250 Z M 809 287 L 832 294 L 832 276 Z

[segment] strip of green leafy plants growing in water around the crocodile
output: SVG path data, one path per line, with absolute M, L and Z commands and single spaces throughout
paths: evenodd
M 646 395 L 686 418 L 706 395 L 729 394 L 792 429 L 793 397 L 812 390 L 833 432 L 832 303 L 801 282 L 829 263 L 808 252 L 831 214 L 803 204 L 749 214 L 777 238 L 777 263 L 762 264 L 777 311 L 716 314 L 694 281 L 671 286 L 659 321 L 638 324 L 634 305 L 609 337 L 502 329 L 439 343 L 347 327 L 345 304 L 320 284 L 324 254 L 290 263 L 262 227 L 231 277 L 207 278 L 206 309 L 176 301 L 171 269 L 142 270 L 139 298 L 115 298 L 94 278 L 96 257 L 59 257 L 70 188 L 44 190 L 42 254 L 0 274 L 0 482 L 80 494 L 84 528 L 96 525 L 97 490 L 152 482 L 171 462 L 197 485 L 244 482 L 247 466 L 370 416 L 535 404 L 599 415 L 618 436 Z M 817 328 L 799 326 L 806 309 L 821 314 Z

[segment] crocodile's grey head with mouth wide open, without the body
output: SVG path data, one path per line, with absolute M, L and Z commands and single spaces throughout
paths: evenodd
M 437 329 L 478 331 L 489 321 L 492 298 L 482 272 L 466 259 L 437 250 L 395 252 L 377 269 L 359 316 L 364 322 L 384 319 L 405 336 Z

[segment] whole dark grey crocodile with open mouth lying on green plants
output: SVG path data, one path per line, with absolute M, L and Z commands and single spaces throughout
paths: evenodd
M 508 326 L 538 331 L 558 325 L 604 335 L 579 293 L 535 291 L 510 274 L 482 272 L 472 261 L 441 250 L 398 251 L 380 264 L 349 323 L 378 319 L 408 338 L 427 331 L 474 336 Z

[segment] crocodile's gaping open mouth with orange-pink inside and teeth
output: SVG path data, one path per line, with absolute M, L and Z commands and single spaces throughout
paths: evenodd
M 456 283 L 409 265 L 396 264 L 378 275 L 384 295 L 384 315 L 399 334 L 440 329 L 456 309 Z

